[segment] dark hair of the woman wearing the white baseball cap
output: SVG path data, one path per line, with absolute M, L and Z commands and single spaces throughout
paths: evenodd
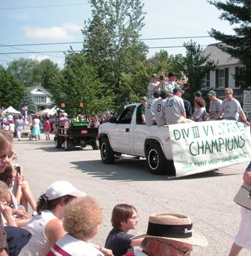
M 37 201 L 37 213 L 41 214 L 43 210 L 53 210 L 58 204 L 61 203 L 61 201 L 63 204 L 67 204 L 71 198 L 75 197 L 72 195 L 63 195 L 60 198 L 48 200 L 46 194 L 42 194 Z

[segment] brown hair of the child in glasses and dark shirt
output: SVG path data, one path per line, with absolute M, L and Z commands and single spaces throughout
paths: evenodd
M 130 204 L 117 204 L 111 213 L 111 225 L 120 229 L 120 222 L 127 222 L 133 214 L 133 210 L 137 213 L 136 208 Z

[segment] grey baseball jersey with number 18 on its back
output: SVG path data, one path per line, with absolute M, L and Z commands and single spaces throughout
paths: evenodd
M 182 121 L 185 119 L 182 112 L 185 112 L 185 106 L 181 97 L 173 95 L 167 99 L 165 106 L 165 117 L 167 124 L 182 123 Z

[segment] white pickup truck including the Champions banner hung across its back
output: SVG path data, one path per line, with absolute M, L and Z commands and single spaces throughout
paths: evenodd
M 152 174 L 176 177 L 250 161 L 250 127 L 236 121 L 207 121 L 150 127 L 136 124 L 138 103 L 99 126 L 102 162 L 122 154 L 146 158 Z

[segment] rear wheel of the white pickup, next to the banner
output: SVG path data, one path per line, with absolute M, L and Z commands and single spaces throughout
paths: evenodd
M 152 174 L 160 175 L 166 172 L 166 158 L 161 146 L 157 143 L 151 144 L 146 152 L 147 165 Z

